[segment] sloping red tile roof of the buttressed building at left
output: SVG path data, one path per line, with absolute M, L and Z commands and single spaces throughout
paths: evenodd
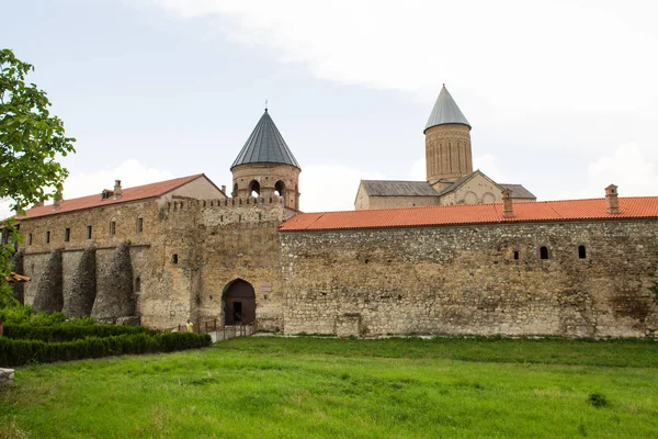
M 125 188 L 123 189 L 123 194 L 116 200 L 114 198 L 103 200 L 101 199 L 101 192 L 97 193 L 95 195 L 88 195 L 71 200 L 63 200 L 59 202 L 59 209 L 57 209 L 56 211 L 53 211 L 53 205 L 36 206 L 26 211 L 24 216 L 19 215 L 16 219 L 32 219 L 41 216 L 54 215 L 64 212 L 79 211 L 81 209 L 99 207 L 103 205 L 125 203 L 128 201 L 160 196 L 166 194 L 167 192 L 180 188 L 185 183 L 189 183 L 190 181 L 196 180 L 202 176 L 203 173 L 197 173 L 195 176 L 181 177 L 173 180 L 137 185 L 135 188 Z

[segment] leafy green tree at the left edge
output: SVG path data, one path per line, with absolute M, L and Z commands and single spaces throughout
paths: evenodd
M 0 198 L 11 200 L 18 214 L 52 196 L 47 188 L 61 193 L 67 170 L 57 162 L 75 153 L 72 137 L 66 137 L 59 117 L 50 115 L 46 92 L 25 77 L 34 67 L 18 59 L 10 49 L 0 50 Z M 14 243 L 20 236 L 13 219 L 2 223 L 3 236 Z M 0 307 L 11 302 L 9 274 L 12 245 L 0 247 Z

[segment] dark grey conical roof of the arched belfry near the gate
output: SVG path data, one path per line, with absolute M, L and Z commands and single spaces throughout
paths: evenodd
M 299 168 L 266 109 L 230 169 L 249 164 L 284 164 Z

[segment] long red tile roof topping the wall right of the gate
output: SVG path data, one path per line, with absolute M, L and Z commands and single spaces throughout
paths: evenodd
M 658 218 L 658 196 L 620 199 L 620 214 L 609 215 L 605 199 L 515 202 L 514 216 L 502 216 L 502 203 L 460 204 L 349 212 L 302 213 L 279 226 L 281 232 L 418 227 L 579 219 Z

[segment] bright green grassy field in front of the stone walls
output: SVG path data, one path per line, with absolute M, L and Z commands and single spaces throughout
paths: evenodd
M 13 437 L 658 437 L 658 344 L 251 337 L 31 365 L 0 391 Z

